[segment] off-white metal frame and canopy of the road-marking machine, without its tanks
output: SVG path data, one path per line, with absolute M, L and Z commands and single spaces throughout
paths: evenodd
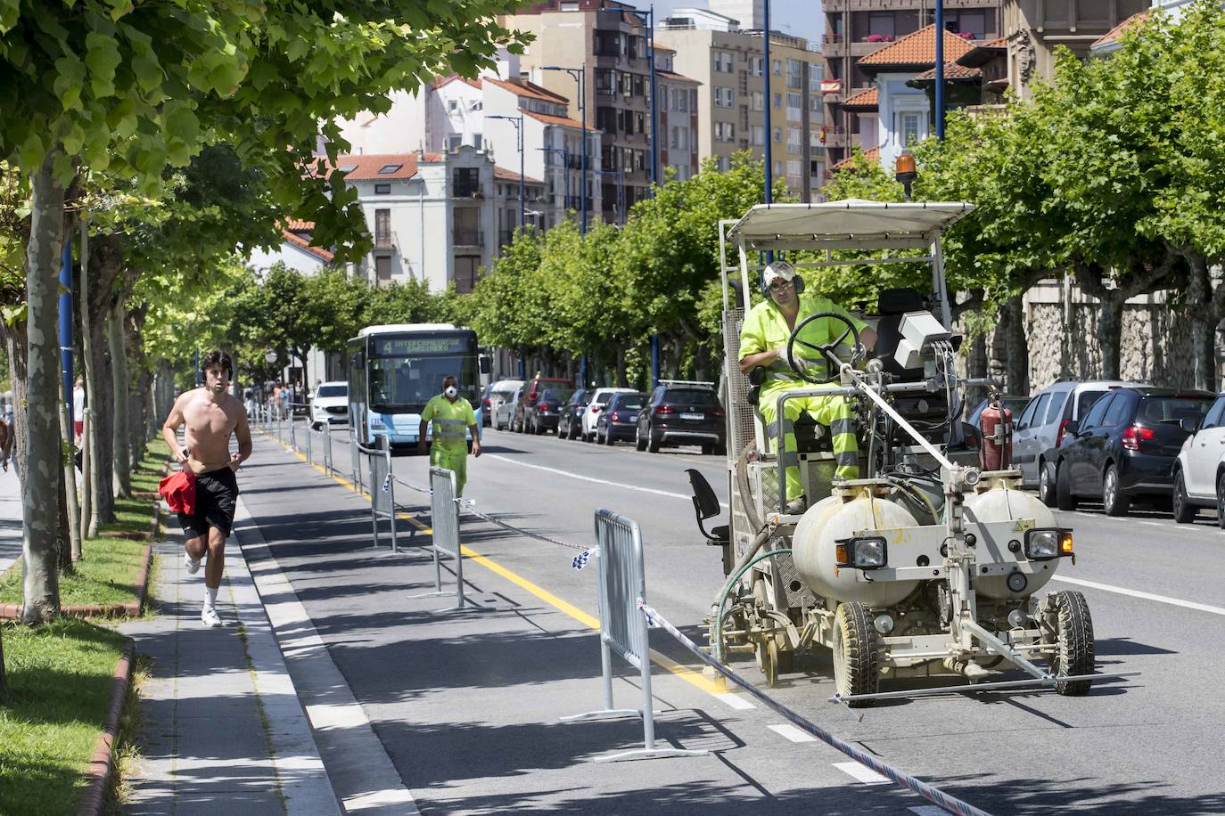
M 875 267 L 898 263 L 926 263 L 931 268 L 932 295 L 938 305 L 940 321 L 946 329 L 952 328 L 949 318 L 949 300 L 944 281 L 941 236 L 944 229 L 974 209 L 964 203 L 876 203 L 864 201 L 844 201 L 828 204 L 762 204 L 753 207 L 739 220 L 719 223 L 719 253 L 723 281 L 724 334 L 726 354 L 724 362 L 724 382 L 728 385 L 726 438 L 728 438 L 728 482 L 731 498 L 731 519 L 729 524 L 730 552 L 724 554 L 725 565 L 748 562 L 756 558 L 752 566 L 742 566 L 740 586 L 729 581 L 718 599 L 715 618 L 710 621 L 710 648 L 713 656 L 722 658 L 725 652 L 756 652 L 762 662 L 763 650 L 777 661 L 779 653 L 804 651 L 813 644 L 833 650 L 834 615 L 837 601 L 821 598 L 810 588 L 797 586 L 802 582 L 794 574 L 790 557 L 790 538 L 795 525 L 802 516 L 786 515 L 785 475 L 780 466 L 778 451 L 784 449 L 783 434 L 785 423 L 777 423 L 777 436 L 767 439 L 762 423 L 752 414 L 745 411 L 742 393 L 747 380 L 739 371 L 737 347 L 740 323 L 751 302 L 750 292 L 758 286 L 750 280 L 750 272 L 760 272 L 763 264 L 750 263 L 751 252 L 817 250 L 824 251 L 824 261 L 793 263 L 799 269 L 865 265 Z M 919 250 L 918 257 L 855 257 L 835 259 L 833 251 L 855 250 L 856 254 L 871 251 Z M 729 252 L 736 259 L 729 263 Z M 744 294 L 744 306 L 735 295 L 735 283 Z M 980 472 L 976 466 L 958 464 L 949 459 L 942 445 L 929 442 L 915 429 L 904 416 L 898 414 L 889 398 L 915 390 L 944 390 L 949 394 L 959 388 L 975 383 L 959 380 L 952 367 L 952 347 L 942 346 L 938 354 L 947 354 L 938 373 L 922 383 L 894 383 L 883 373 L 877 363 L 870 365 L 866 372 L 856 371 L 843 362 L 839 369 L 840 382 L 833 388 L 812 388 L 788 391 L 778 396 L 778 416 L 783 417 L 783 405 L 789 399 L 807 395 L 828 396 L 842 394 L 865 400 L 870 416 L 887 415 L 904 434 L 914 440 L 903 455 L 921 461 L 935 472 L 938 467 L 940 482 L 944 498 L 944 519 L 937 524 L 902 527 L 897 530 L 859 531 L 856 535 L 883 536 L 887 540 L 907 540 L 908 555 L 920 553 L 926 555 L 930 566 L 895 566 L 872 570 L 855 570 L 859 581 L 914 581 L 942 582 L 947 591 L 948 607 L 952 610 L 943 631 L 926 635 L 884 636 L 882 666 L 891 675 L 922 673 L 959 673 L 971 681 L 976 689 L 1014 689 L 1025 686 L 1056 686 L 1057 684 L 1079 680 L 1102 680 L 1106 678 L 1127 677 L 1134 673 L 1093 674 L 1093 675 L 1055 675 L 1034 663 L 1035 658 L 1050 658 L 1058 647 L 1052 642 L 1050 632 L 1041 630 L 1040 621 L 1044 608 L 1034 596 L 1027 596 L 1020 607 L 1025 613 L 1024 626 L 1009 626 L 1003 631 L 992 631 L 980 623 L 980 606 L 998 607 L 998 602 L 982 598 L 975 593 L 974 577 L 982 575 L 1001 575 L 1023 573 L 1031 575 L 1055 570 L 1060 559 L 1028 560 L 1023 554 L 1009 548 L 1016 541 L 1018 522 L 979 522 L 968 520 L 963 513 L 967 494 L 982 489 L 987 482 L 1000 480 L 1013 481 L 1018 473 Z M 741 416 L 745 415 L 745 416 Z M 742 426 L 745 417 L 753 417 L 752 439 Z M 875 426 L 873 426 L 875 427 Z M 752 442 L 756 449 L 753 461 L 741 461 L 744 451 L 737 448 Z M 846 498 L 856 492 L 872 491 L 882 484 L 876 473 L 854 482 L 837 482 L 832 478 L 832 456 L 823 454 L 805 454 L 800 456 L 801 473 L 806 489 L 821 492 L 838 491 Z M 871 456 L 862 464 L 870 465 Z M 742 495 L 737 482 L 737 467 L 744 469 L 740 477 L 747 477 L 750 495 Z M 980 486 L 980 482 L 982 483 Z M 1016 482 L 1014 482 L 1016 483 Z M 828 486 L 828 487 L 827 487 Z M 826 489 L 827 488 L 827 489 Z M 810 502 L 813 495 L 810 492 Z M 752 506 L 747 506 L 751 503 Z M 763 522 L 763 529 L 751 529 L 750 519 Z M 1034 521 L 1029 520 L 1029 526 Z M 763 546 L 762 537 L 769 542 Z M 775 558 L 753 557 L 758 549 L 771 553 L 786 549 Z M 849 569 L 849 568 L 846 568 Z M 729 574 L 730 574 L 729 569 Z M 974 577 L 971 577 L 974 576 Z M 760 597 L 764 581 L 767 597 Z M 771 592 L 772 590 L 772 592 Z M 724 612 L 724 602 L 735 596 L 733 607 Z M 1014 604 L 1016 606 L 1016 604 Z M 998 612 L 998 609 L 993 609 Z M 725 619 L 730 618 L 731 628 L 725 629 Z M 998 619 L 998 615 L 995 615 Z M 1031 679 L 982 683 L 987 670 L 979 662 L 1001 663 L 1023 670 Z M 943 670 L 941 670 L 943 667 Z M 777 666 L 775 666 L 777 668 Z M 936 672 L 932 672 L 932 669 Z M 922 691 L 887 691 L 861 695 L 834 695 L 839 702 L 864 702 L 867 700 L 915 696 L 919 694 L 940 694 L 956 689 L 964 691 L 965 686 L 943 686 Z

